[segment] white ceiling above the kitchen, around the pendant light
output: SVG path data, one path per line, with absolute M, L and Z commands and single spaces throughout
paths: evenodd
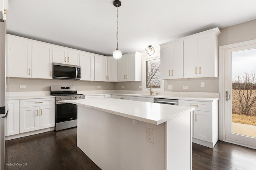
M 256 19 L 256 0 L 121 0 L 118 47 L 142 51 L 214 27 Z M 111 56 L 113 0 L 9 0 L 8 33 Z

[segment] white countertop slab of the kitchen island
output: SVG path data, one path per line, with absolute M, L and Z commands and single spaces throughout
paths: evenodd
M 112 98 L 67 100 L 67 102 L 154 125 L 159 125 L 170 119 L 178 117 L 179 115 L 187 113 L 188 111 L 190 112 L 194 110 L 194 107 L 119 100 Z

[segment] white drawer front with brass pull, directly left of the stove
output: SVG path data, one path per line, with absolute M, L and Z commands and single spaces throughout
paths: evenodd
M 20 107 L 49 106 L 55 105 L 55 98 L 26 99 L 20 100 Z

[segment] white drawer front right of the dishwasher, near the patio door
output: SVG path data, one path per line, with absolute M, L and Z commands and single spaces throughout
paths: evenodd
M 196 102 L 188 100 L 179 100 L 179 106 L 195 107 L 195 110 L 212 112 L 212 102 Z

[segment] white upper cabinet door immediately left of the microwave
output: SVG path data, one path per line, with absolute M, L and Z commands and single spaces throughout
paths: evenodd
M 32 43 L 32 78 L 52 79 L 52 46 Z

